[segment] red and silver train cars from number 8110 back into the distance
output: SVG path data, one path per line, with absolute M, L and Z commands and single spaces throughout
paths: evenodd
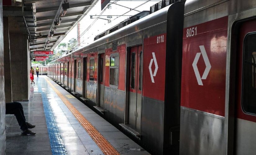
M 49 75 L 152 153 L 178 152 L 184 4 L 50 62 Z

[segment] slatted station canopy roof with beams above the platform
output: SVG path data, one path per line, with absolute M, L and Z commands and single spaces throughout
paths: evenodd
M 19 2 L 20 1 L 20 2 Z M 30 51 L 53 50 L 98 0 L 22 0 L 3 6 L 14 16 L 20 31 L 29 34 Z

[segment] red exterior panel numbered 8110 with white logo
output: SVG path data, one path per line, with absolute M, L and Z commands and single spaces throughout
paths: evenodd
M 165 88 L 165 38 L 166 33 L 145 38 L 143 50 L 142 95 L 161 101 L 164 101 Z

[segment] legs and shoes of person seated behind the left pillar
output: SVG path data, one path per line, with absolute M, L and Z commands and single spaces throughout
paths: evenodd
M 35 127 L 35 125 L 30 124 L 29 122 L 26 122 L 23 107 L 19 102 L 11 102 L 5 104 L 5 114 L 14 114 L 20 129 L 21 129 L 21 135 L 35 135 L 35 132 L 32 132 L 29 129 L 32 129 Z

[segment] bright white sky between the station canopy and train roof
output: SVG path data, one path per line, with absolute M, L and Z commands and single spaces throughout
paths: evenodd
M 115 25 L 126 20 L 130 16 L 135 15 L 140 11 L 149 11 L 150 7 L 157 2 L 160 2 L 160 1 L 158 0 L 151 0 L 151 1 L 150 0 L 149 1 L 148 0 L 111 0 L 109 3 L 110 7 L 106 8 L 107 7 L 106 6 L 105 11 L 103 11 L 102 13 L 101 1 L 99 0 L 97 4 L 88 12 L 88 14 L 80 21 L 80 34 L 86 31 L 83 33 L 83 35 L 80 35 L 81 46 L 92 43 L 96 35 L 99 35 L 104 31 L 106 31 L 107 29 L 114 27 Z M 122 7 L 119 5 L 122 5 L 125 7 Z M 138 7 L 139 5 L 141 6 Z M 135 9 L 137 11 L 132 10 L 135 7 L 137 7 Z M 110 20 L 109 23 L 107 20 L 90 19 L 90 15 L 100 15 L 101 13 L 102 15 L 105 15 L 105 16 L 100 16 L 100 17 L 104 19 L 109 19 Z M 116 15 L 123 15 L 123 14 L 128 16 L 116 16 Z M 106 15 L 112 15 L 112 18 L 107 18 Z M 97 16 L 93 16 L 93 18 L 95 17 Z M 77 38 L 77 26 L 75 26 L 61 42 L 68 42 L 71 38 Z

